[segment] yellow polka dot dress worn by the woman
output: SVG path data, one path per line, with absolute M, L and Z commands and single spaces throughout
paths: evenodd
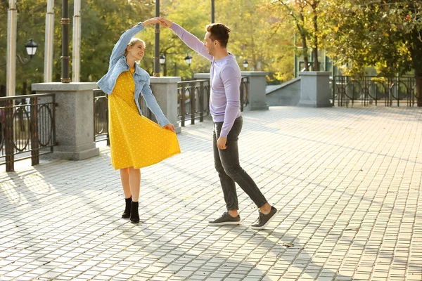
M 176 133 L 139 115 L 133 72 L 122 72 L 108 96 L 111 164 L 115 170 L 140 169 L 180 153 Z

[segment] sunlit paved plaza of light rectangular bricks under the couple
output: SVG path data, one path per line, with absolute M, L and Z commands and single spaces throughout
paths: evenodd
M 238 188 L 225 211 L 212 122 L 141 169 L 141 223 L 110 151 L 0 172 L 0 280 L 422 280 L 422 109 L 245 112 L 241 164 L 280 214 L 265 230 Z

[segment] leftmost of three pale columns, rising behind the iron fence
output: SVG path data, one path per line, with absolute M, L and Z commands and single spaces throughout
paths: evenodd
M 15 96 L 16 90 L 16 36 L 18 28 L 18 14 L 16 0 L 9 0 L 7 11 L 7 70 L 6 70 L 6 96 Z

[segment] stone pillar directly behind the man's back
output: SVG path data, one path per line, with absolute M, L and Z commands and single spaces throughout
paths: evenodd
M 267 74 L 264 71 L 242 71 L 242 77 L 249 77 L 249 110 L 268 110 Z

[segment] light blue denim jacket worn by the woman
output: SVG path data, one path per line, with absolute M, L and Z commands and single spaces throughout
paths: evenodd
M 122 34 L 119 41 L 115 44 L 113 51 L 110 55 L 110 64 L 108 66 L 108 72 L 104 75 L 98 82 L 98 87 L 103 90 L 104 93 L 110 95 L 113 92 L 113 89 L 116 85 L 117 77 L 122 72 L 129 70 L 129 65 L 126 63 L 126 57 L 123 55 L 124 50 L 127 48 L 127 44 L 129 44 L 130 39 L 134 37 L 135 34 L 144 30 L 145 27 L 142 25 L 141 22 L 139 24 L 132 27 L 130 30 L 127 30 Z M 143 99 L 146 101 L 146 105 L 149 107 L 151 112 L 155 115 L 155 118 L 158 121 L 160 126 L 165 126 L 169 124 L 169 120 L 164 116 L 160 106 L 155 100 L 153 95 L 153 91 L 151 91 L 150 86 L 150 76 L 148 72 L 143 70 L 139 67 L 138 64 L 135 63 L 135 72 L 134 72 L 134 81 L 135 81 L 135 103 L 138 107 L 139 114 L 142 115 L 141 107 L 139 106 L 139 96 L 141 95 Z

